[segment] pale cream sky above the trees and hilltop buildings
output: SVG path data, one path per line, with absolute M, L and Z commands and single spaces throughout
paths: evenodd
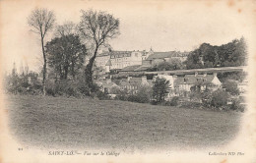
M 191 51 L 201 43 L 221 45 L 255 33 L 255 4 L 250 1 L 40 1 L 3 0 L 0 3 L 1 69 L 16 62 L 30 70 L 42 67 L 39 35 L 27 18 L 35 7 L 53 10 L 57 24 L 79 23 L 81 10 L 102 10 L 120 20 L 120 35 L 109 41 L 114 50 Z M 46 41 L 52 36 L 49 33 Z

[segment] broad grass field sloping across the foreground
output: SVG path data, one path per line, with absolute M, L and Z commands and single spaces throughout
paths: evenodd
M 125 101 L 11 95 L 13 135 L 32 146 L 150 150 L 220 146 L 242 113 Z

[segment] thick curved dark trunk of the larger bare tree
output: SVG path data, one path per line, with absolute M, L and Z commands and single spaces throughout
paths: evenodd
M 94 56 L 89 60 L 89 64 L 86 67 L 85 76 L 86 76 L 86 83 L 88 84 L 91 92 L 94 92 L 94 83 L 93 83 L 93 66 L 96 60 L 96 53 L 97 53 L 98 46 L 96 45 L 96 50 Z M 91 93 L 90 92 L 90 93 Z

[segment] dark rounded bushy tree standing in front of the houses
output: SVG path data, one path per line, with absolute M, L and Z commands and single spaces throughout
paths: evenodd
M 166 81 L 164 78 L 156 78 L 153 86 L 153 98 L 157 102 L 164 101 L 165 96 L 169 92 L 169 81 Z

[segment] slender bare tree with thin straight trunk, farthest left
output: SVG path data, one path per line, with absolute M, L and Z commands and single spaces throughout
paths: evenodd
M 32 27 L 32 31 L 40 35 L 41 49 L 43 56 L 42 70 L 42 92 L 45 95 L 45 79 L 46 79 L 46 54 L 44 50 L 44 37 L 49 30 L 53 28 L 55 15 L 47 9 L 34 9 L 28 18 L 28 24 Z

